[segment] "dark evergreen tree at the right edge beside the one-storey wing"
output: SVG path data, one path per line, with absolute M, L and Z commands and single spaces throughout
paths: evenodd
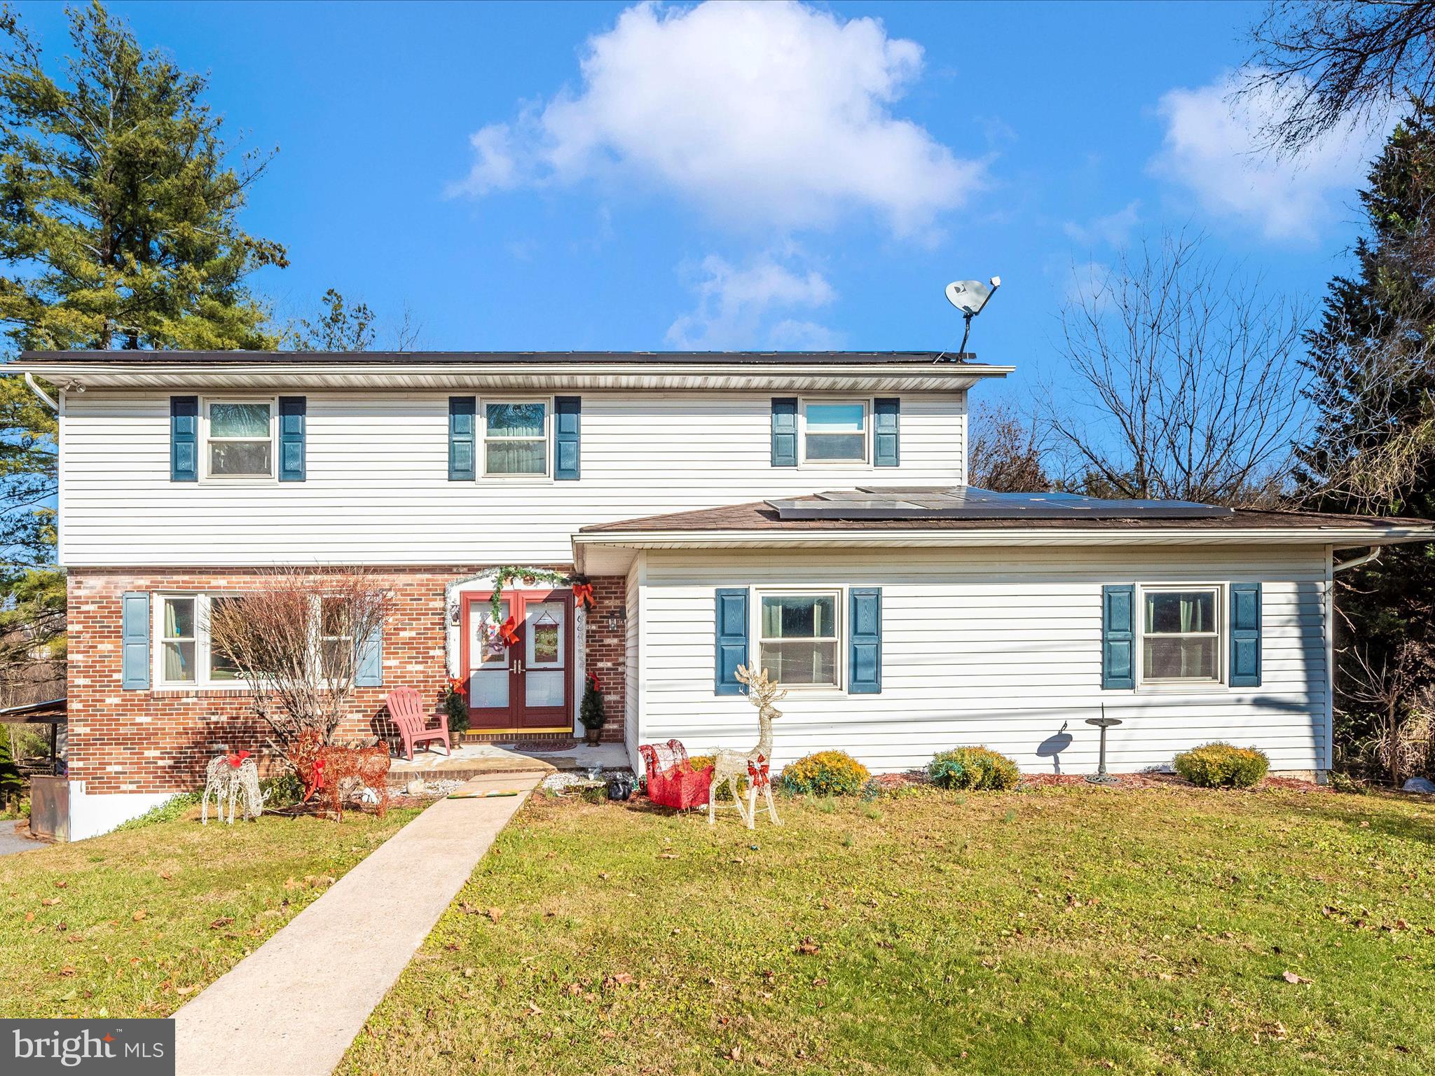
M 1435 108 L 1391 133 L 1360 192 L 1355 273 L 1330 281 L 1306 369 L 1319 422 L 1297 449 L 1299 486 L 1327 512 L 1435 516 Z M 1337 704 L 1345 746 L 1380 729 L 1353 697 L 1356 654 L 1409 666 L 1402 710 L 1435 681 L 1435 547 L 1396 545 L 1336 577 Z M 1401 714 L 1403 716 L 1403 713 Z

